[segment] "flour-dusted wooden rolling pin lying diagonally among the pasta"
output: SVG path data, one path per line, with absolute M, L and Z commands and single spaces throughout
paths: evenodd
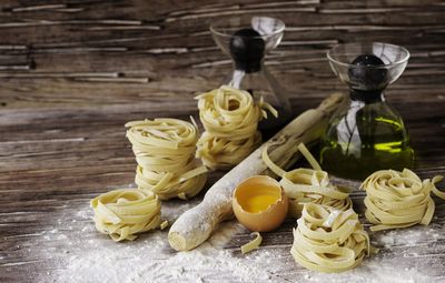
M 299 143 L 310 143 L 324 133 L 332 114 L 339 108 L 345 97 L 334 93 L 317 109 L 301 113 L 259 146 L 241 163 L 218 180 L 206 193 L 202 202 L 186 211 L 171 226 L 168 241 L 177 251 L 188 251 L 206 241 L 219 222 L 233 216 L 231 196 L 235 188 L 246 178 L 261 174 L 267 165 L 261 160 L 261 151 L 268 145 L 269 158 L 281 168 L 291 165 L 298 154 Z

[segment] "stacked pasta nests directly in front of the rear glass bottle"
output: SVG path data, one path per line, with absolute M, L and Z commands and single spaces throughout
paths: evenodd
M 205 132 L 198 140 L 197 156 L 210 169 L 238 164 L 261 143 L 258 122 L 277 111 L 263 100 L 255 102 L 247 91 L 222 85 L 196 97 Z

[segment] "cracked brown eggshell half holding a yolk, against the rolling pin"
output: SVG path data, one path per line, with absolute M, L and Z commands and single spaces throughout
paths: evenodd
M 250 231 L 277 229 L 286 218 L 288 200 L 279 183 L 267 175 L 243 181 L 234 191 L 234 213 Z

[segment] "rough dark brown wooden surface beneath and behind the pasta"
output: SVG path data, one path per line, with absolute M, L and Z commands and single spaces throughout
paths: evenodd
M 110 251 L 125 245 L 93 230 L 88 201 L 134 183 L 136 161 L 125 138 L 127 121 L 188 119 L 197 113 L 194 94 L 219 85 L 230 72 L 230 61 L 208 31 L 212 19 L 228 14 L 276 16 L 287 23 L 284 41 L 266 64 L 290 90 L 295 114 L 345 90 L 325 59 L 332 46 L 365 40 L 405 46 L 412 58 L 387 99 L 409 130 L 415 171 L 422 178 L 445 174 L 445 4 L 425 3 L 1 1 L 0 282 L 79 282 L 55 274 L 87 254 L 88 243 Z M 212 173 L 209 184 L 220 175 Z M 357 182 L 348 183 L 358 188 Z M 359 213 L 363 196 L 353 193 Z M 199 198 L 191 204 L 169 202 L 171 220 L 178 214 L 175 208 L 185 210 Z M 380 253 L 348 275 L 323 277 L 296 265 L 288 252 L 294 225 L 289 220 L 265 234 L 264 247 L 255 253 L 278 254 L 279 267 L 266 266 L 270 276 L 253 276 L 251 282 L 445 281 L 443 201 L 437 201 L 428 228 L 373 233 Z M 224 249 L 244 259 L 239 245 L 248 234 L 243 229 L 234 234 Z M 137 244 L 149 245 L 150 236 Z M 167 245 L 162 251 L 166 256 L 157 261 L 174 256 Z M 245 262 L 256 264 L 251 256 Z M 190 282 L 244 281 L 237 274 L 221 275 L 218 269 L 206 276 L 189 272 Z

